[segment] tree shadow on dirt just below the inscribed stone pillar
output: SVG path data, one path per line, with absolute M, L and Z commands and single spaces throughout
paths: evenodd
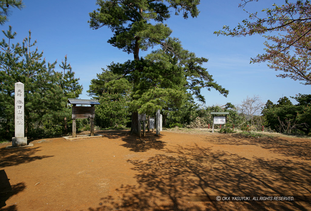
M 25 147 L 25 148 L 13 148 L 13 149 L 0 149 L 0 168 L 12 165 L 18 165 L 21 163 L 29 163 L 31 161 L 41 160 L 53 156 L 32 156 L 36 152 L 40 151 L 40 147 Z

